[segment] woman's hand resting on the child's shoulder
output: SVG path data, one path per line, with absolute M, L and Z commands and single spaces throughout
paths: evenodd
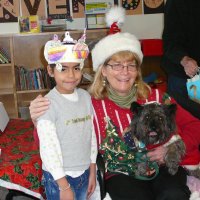
M 29 110 L 34 125 L 36 125 L 37 118 L 44 114 L 49 108 L 49 104 L 50 101 L 46 97 L 42 97 L 42 95 L 37 96 L 33 101 L 31 101 Z

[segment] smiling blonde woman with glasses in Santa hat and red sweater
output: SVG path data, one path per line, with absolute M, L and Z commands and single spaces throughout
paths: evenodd
M 122 8 L 113 8 L 106 15 L 111 21 L 118 22 Z M 110 23 L 112 24 L 112 23 Z M 119 24 L 119 23 L 117 23 Z M 112 31 L 111 31 L 112 32 Z M 109 117 L 116 127 L 118 136 L 123 140 L 123 133 L 134 117 L 130 106 L 133 102 L 176 103 L 157 89 L 151 89 L 143 80 L 141 63 L 143 54 L 139 40 L 130 33 L 115 33 L 101 39 L 92 50 L 94 81 L 89 88 L 94 107 L 94 126 L 98 145 L 107 137 Z M 48 110 L 47 98 L 38 96 L 31 102 L 30 113 L 36 120 Z M 176 122 L 183 138 L 187 154 L 182 165 L 197 165 L 200 161 L 198 145 L 200 143 L 200 121 L 177 104 Z M 102 154 L 103 152 L 100 151 Z M 171 176 L 164 166 L 167 147 L 159 146 L 147 153 L 151 161 L 160 165 L 159 174 L 151 181 L 142 181 L 123 173 L 109 173 L 107 169 L 106 191 L 113 200 L 189 200 L 190 191 L 186 185 L 187 173 L 180 166 L 178 172 Z M 194 156 L 193 156 L 194 155 Z M 195 158 L 190 162 L 191 157 Z

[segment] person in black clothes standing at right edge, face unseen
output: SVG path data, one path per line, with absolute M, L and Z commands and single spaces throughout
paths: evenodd
M 200 104 L 188 97 L 186 82 L 200 64 L 200 1 L 167 0 L 164 12 L 161 66 L 168 76 L 168 93 L 200 119 Z

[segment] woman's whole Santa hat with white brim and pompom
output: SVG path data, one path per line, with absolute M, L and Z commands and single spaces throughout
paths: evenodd
M 109 35 L 101 39 L 92 50 L 93 70 L 97 71 L 109 57 L 120 51 L 135 53 L 142 63 L 143 53 L 140 41 L 130 33 L 121 33 L 120 26 L 125 18 L 122 7 L 113 7 L 106 13 L 106 23 L 110 27 Z

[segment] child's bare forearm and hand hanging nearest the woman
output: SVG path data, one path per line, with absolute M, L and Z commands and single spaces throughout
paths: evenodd
M 91 197 L 96 188 L 96 164 L 90 165 L 90 176 L 88 184 L 87 199 Z

